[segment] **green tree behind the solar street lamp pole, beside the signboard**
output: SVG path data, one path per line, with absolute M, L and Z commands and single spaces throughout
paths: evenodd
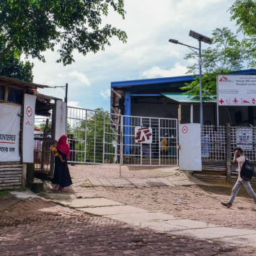
M 227 27 L 223 29 L 217 28 L 213 30 L 213 45 L 202 50 L 201 58 L 203 58 L 203 100 L 216 99 L 216 75 L 229 74 L 231 71 L 239 71 L 242 69 L 244 62 L 244 48 L 242 43 L 237 40 L 235 35 Z M 198 52 L 187 54 L 185 60 L 198 60 Z M 187 67 L 187 74 L 198 74 L 198 63 Z M 185 84 L 185 87 L 180 89 L 185 90 L 184 94 L 189 95 L 193 100 L 199 100 L 200 81 L 199 76 L 190 84 Z

